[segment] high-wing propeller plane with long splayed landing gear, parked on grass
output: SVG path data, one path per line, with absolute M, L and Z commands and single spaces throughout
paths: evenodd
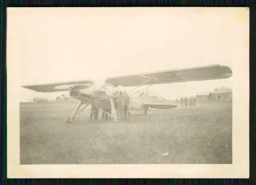
M 81 111 L 88 107 L 88 105 L 92 105 L 93 107 L 102 110 L 105 110 L 106 106 L 111 106 L 112 116 L 114 117 L 114 120 L 117 121 L 114 102 L 118 101 L 118 99 L 113 93 L 109 93 L 108 90 L 104 88 L 106 86 L 112 86 L 112 88 L 118 86 L 137 86 L 135 89 L 133 89 L 134 91 L 141 86 L 150 87 L 156 84 L 172 84 L 192 81 L 216 80 L 229 78 L 230 76 L 232 76 L 232 70 L 228 66 L 216 64 L 179 70 L 155 71 L 144 74 L 109 77 L 105 79 L 101 87 L 96 87 L 95 81 L 90 79 L 62 83 L 26 85 L 22 87 L 44 93 L 69 91 L 70 97 L 80 100 L 80 103 L 72 116 L 68 118 L 67 123 L 70 123 Z M 132 93 L 132 91 L 130 93 Z M 82 105 L 84 105 L 84 107 L 80 110 Z M 142 109 L 145 110 L 145 113 L 148 107 L 154 107 L 157 109 L 172 109 L 176 108 L 177 105 L 144 103 Z M 106 114 L 109 113 L 106 112 Z

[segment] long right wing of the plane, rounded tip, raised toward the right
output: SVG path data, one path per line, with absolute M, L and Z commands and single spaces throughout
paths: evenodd
M 106 83 L 113 86 L 140 86 L 155 84 L 172 84 L 191 81 L 216 80 L 232 76 L 228 66 L 210 65 L 179 70 L 158 71 L 153 73 L 135 74 L 127 76 L 110 77 Z

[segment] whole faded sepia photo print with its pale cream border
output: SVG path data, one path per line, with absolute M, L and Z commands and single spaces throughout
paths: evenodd
M 247 8 L 7 15 L 8 174 L 248 176 Z

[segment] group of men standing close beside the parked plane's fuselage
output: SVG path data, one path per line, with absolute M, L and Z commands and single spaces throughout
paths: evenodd
M 114 107 L 116 110 L 116 115 L 117 118 L 119 120 L 130 120 L 131 119 L 131 113 L 130 113 L 130 97 L 129 95 L 124 91 L 119 91 L 118 94 L 115 94 L 115 97 L 113 98 L 114 101 Z M 108 120 L 110 118 L 111 115 L 111 104 L 110 101 L 107 102 L 106 104 L 108 104 L 106 106 L 106 109 L 102 109 L 102 119 L 103 120 Z M 99 115 L 99 109 L 97 109 L 96 107 L 92 106 L 91 107 L 91 116 L 90 119 L 92 120 L 94 115 L 94 119 L 97 120 L 98 119 L 98 115 Z

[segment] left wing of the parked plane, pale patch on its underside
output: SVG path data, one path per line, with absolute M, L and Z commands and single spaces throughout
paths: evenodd
M 92 80 L 83 80 L 83 81 L 73 81 L 73 82 L 63 82 L 63 83 L 51 83 L 51 84 L 34 84 L 22 86 L 26 89 L 30 89 L 37 92 L 60 92 L 60 91 L 69 91 L 70 87 L 75 85 L 76 88 L 87 88 L 91 87 Z

